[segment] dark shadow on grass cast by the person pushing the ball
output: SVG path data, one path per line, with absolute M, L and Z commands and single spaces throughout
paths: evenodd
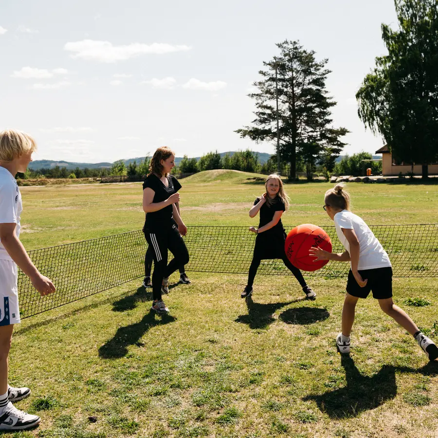
M 371 377 L 362 375 L 349 356 L 341 356 L 341 365 L 346 372 L 347 386 L 303 398 L 304 401 L 315 401 L 319 409 L 332 419 L 357 417 L 361 412 L 392 400 L 397 395 L 396 371 L 428 376 L 438 374 L 438 364 L 433 363 L 420 369 L 383 365 Z

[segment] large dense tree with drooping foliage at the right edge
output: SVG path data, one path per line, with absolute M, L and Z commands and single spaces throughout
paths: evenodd
M 405 163 L 438 161 L 438 0 L 394 0 L 399 28 L 382 24 L 388 55 L 356 94 L 359 117 Z

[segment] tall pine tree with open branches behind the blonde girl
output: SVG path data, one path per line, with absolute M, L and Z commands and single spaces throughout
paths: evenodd
M 328 60 L 316 61 L 315 52 L 304 50 L 298 41 L 285 40 L 276 45 L 280 55 L 263 62 L 266 70 L 259 72 L 262 79 L 254 83 L 258 92 L 249 94 L 256 101 L 253 126 L 236 132 L 256 142 L 270 140 L 276 145 L 277 83 L 280 156 L 288 163 L 289 178 L 294 179 L 299 156 L 308 169 L 327 150 L 339 156 L 345 146 L 339 138 L 348 130 L 331 126 L 331 108 L 336 102 L 326 90 L 326 79 L 331 73 L 326 69 Z

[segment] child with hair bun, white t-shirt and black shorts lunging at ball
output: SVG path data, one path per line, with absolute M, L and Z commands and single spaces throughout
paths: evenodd
M 336 337 L 341 353 L 350 352 L 350 332 L 354 322 L 354 310 L 359 298 L 369 292 L 379 301 L 381 309 L 403 329 L 411 333 L 431 361 L 438 359 L 438 347 L 424 336 L 412 319 L 392 301 L 392 268 L 389 257 L 368 225 L 350 211 L 350 197 L 339 184 L 327 190 L 324 210 L 336 226 L 336 233 L 346 251 L 328 253 L 321 248 L 311 248 L 310 255 L 316 260 L 350 261 L 347 295 L 342 309 L 342 333 Z

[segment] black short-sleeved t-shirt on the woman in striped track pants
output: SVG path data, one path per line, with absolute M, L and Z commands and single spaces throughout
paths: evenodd
M 181 184 L 173 175 L 167 175 L 168 187 L 157 177 L 157 175 L 149 175 L 143 183 L 143 190 L 146 187 L 151 188 L 154 192 L 153 203 L 163 202 L 169 196 L 178 192 Z M 166 227 L 172 227 L 175 224 L 173 220 L 173 204 L 167 205 L 158 211 L 149 212 L 146 214 L 145 230 L 158 231 Z

